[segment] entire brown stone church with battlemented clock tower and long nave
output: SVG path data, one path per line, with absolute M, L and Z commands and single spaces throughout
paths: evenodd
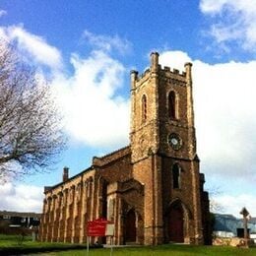
M 88 221 L 103 217 L 114 223 L 114 244 L 211 243 L 191 68 L 162 68 L 153 52 L 149 69 L 131 71 L 130 145 L 73 177 L 65 167 L 63 181 L 44 188 L 41 241 L 83 243 Z

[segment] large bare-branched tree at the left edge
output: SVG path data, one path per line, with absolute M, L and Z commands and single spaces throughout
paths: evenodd
M 65 140 L 48 84 L 0 40 L 0 180 L 49 167 Z

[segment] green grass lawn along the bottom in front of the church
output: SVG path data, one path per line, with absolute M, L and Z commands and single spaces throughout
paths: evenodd
M 13 254 L 33 254 L 38 255 L 69 255 L 69 256 L 86 256 L 87 250 L 85 245 L 69 243 L 46 243 L 32 242 L 32 237 L 26 237 L 23 243 L 19 242 L 17 235 L 0 234 L 0 255 Z M 110 255 L 109 248 L 90 249 L 89 256 Z M 186 256 L 186 255 L 213 255 L 213 256 L 235 256 L 235 255 L 254 255 L 256 256 L 256 247 L 244 249 L 222 246 L 193 246 L 165 244 L 160 246 L 140 246 L 140 247 L 115 247 L 113 256 Z

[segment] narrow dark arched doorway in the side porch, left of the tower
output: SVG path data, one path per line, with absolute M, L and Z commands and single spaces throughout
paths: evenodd
M 136 215 L 130 210 L 125 218 L 125 242 L 136 242 Z

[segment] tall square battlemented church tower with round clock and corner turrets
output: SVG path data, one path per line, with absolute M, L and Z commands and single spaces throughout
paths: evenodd
M 191 63 L 131 72 L 131 160 L 144 185 L 144 241 L 203 243 L 202 174 L 196 154 Z

